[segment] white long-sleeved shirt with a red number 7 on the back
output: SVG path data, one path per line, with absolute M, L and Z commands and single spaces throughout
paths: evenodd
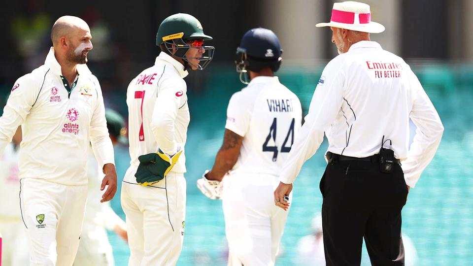
M 161 52 L 155 65 L 143 70 L 128 86 L 128 137 L 131 166 L 139 165 L 138 157 L 161 149 L 172 155 L 177 147 L 184 149 L 190 121 L 187 105 L 188 74 L 184 66 Z M 186 172 L 184 152 L 172 167 L 173 172 Z M 135 175 L 124 181 L 136 183 Z

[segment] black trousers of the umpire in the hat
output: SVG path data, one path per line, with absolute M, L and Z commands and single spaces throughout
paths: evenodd
M 372 265 L 404 265 L 407 186 L 401 166 L 382 173 L 378 163 L 335 162 L 325 169 L 320 191 L 327 266 L 359 266 L 363 237 Z

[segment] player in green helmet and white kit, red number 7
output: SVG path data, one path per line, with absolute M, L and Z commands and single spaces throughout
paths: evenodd
M 203 69 L 210 62 L 214 48 L 202 44 L 211 39 L 195 17 L 180 13 L 169 16 L 157 33 L 161 53 L 155 65 L 143 70 L 128 87 L 131 166 L 123 180 L 121 201 L 130 266 L 175 265 L 179 258 L 186 203 L 183 148 L 190 121 L 183 78 L 187 69 Z M 143 176 L 140 169 L 145 163 L 141 158 L 157 152 L 178 161 L 161 180 L 153 179 L 151 173 L 144 174 L 149 177 L 146 182 L 137 180 Z M 156 159 L 161 160 L 157 155 Z M 147 163 L 154 167 L 158 162 Z

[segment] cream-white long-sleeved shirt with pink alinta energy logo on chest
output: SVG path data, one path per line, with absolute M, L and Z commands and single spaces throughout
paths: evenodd
M 87 184 L 90 144 L 101 166 L 114 164 L 99 81 L 85 64 L 77 72 L 69 95 L 51 47 L 43 66 L 15 82 L 0 117 L 0 154 L 22 125 L 21 179 Z

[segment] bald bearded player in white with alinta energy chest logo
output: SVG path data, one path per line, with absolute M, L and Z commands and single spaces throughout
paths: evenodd
M 108 186 L 101 201 L 113 198 L 116 171 L 103 98 L 91 74 L 89 26 L 77 17 L 59 18 L 43 66 L 20 77 L 0 117 L 0 155 L 19 125 L 20 208 L 28 229 L 30 265 L 72 265 L 87 198 L 89 145 Z

